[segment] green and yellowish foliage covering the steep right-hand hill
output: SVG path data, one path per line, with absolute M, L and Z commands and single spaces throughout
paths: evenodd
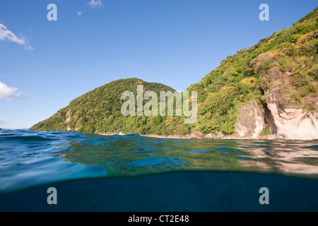
M 249 100 L 264 107 L 270 94 L 284 107 L 317 109 L 317 36 L 318 7 L 291 28 L 221 61 L 187 89 L 199 95 L 196 128 L 203 133 L 235 133 L 240 107 Z

